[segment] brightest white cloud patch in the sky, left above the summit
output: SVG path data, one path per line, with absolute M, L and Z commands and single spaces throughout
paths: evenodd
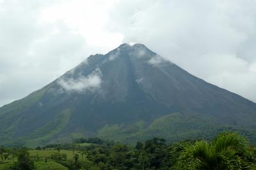
M 86 37 L 86 42 L 92 46 L 118 46 L 123 35 L 110 32 L 104 28 L 108 23 L 108 12 L 116 4 L 116 0 L 84 1 L 73 0 L 57 3 L 42 10 L 43 23 L 64 22 L 79 35 Z

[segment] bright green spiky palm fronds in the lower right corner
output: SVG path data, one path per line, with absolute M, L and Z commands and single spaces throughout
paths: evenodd
M 180 154 L 176 169 L 255 169 L 246 140 L 235 133 L 218 135 L 211 143 L 196 141 Z

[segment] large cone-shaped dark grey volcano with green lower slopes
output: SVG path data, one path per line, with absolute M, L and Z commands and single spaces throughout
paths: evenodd
M 91 135 L 182 139 L 184 132 L 204 135 L 220 127 L 249 132 L 255 120 L 255 103 L 196 78 L 142 44 L 122 44 L 1 107 L 0 137 L 1 143 L 19 139 L 28 145 Z

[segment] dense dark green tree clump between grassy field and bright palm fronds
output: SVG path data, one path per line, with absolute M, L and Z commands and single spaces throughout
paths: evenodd
M 88 150 L 89 160 L 100 169 L 161 169 L 170 167 L 168 145 L 164 139 L 155 137 L 135 148 L 126 144 L 96 146 Z

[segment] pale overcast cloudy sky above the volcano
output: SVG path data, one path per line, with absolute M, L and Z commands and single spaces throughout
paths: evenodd
M 255 0 L 0 0 L 0 106 L 121 43 L 256 102 L 255 9 Z

